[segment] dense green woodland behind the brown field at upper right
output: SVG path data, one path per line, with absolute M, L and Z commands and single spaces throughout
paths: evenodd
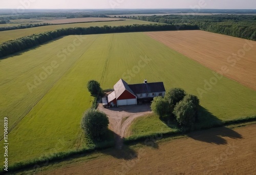
M 255 15 L 165 15 L 120 16 L 180 26 L 190 24 L 198 29 L 224 35 L 256 40 Z

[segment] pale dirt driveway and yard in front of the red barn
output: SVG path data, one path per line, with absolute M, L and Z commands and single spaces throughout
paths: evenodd
M 100 103 L 98 110 L 108 115 L 110 121 L 109 127 L 117 134 L 117 142 L 121 142 L 120 139 L 123 137 L 128 137 L 127 131 L 136 118 L 152 113 L 150 104 L 104 108 L 102 103 Z M 118 145 L 120 147 L 121 143 Z

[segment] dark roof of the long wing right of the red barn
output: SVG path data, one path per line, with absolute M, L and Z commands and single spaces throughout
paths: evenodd
M 165 92 L 163 82 L 129 84 L 129 87 L 135 94 Z

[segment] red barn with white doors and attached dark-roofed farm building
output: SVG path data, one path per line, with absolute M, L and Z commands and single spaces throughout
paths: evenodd
M 163 82 L 127 84 L 120 79 L 114 85 L 114 91 L 108 96 L 109 106 L 122 106 L 137 104 L 138 101 L 152 100 L 156 96 L 164 96 Z

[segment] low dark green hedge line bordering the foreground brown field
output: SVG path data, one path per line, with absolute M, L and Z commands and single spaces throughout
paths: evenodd
M 243 124 L 243 123 L 246 123 L 246 122 L 253 122 L 253 121 L 256 121 L 256 116 L 247 117 L 247 118 L 240 118 L 240 119 L 237 119 L 237 120 L 222 121 L 222 123 L 215 124 L 212 127 L 202 127 L 200 129 L 194 130 L 193 132 L 199 131 L 199 130 L 207 130 L 207 129 L 211 129 L 211 128 L 229 126 L 229 125 L 232 125 L 232 124 Z M 248 125 L 249 124 L 250 123 L 248 123 Z M 244 124 L 242 126 L 246 126 L 246 124 Z M 235 128 L 235 127 L 232 127 L 232 128 Z M 164 138 L 184 136 L 187 133 L 189 133 L 189 132 L 187 132 L 186 130 L 179 130 L 178 132 L 166 132 L 166 133 L 157 132 L 157 133 L 152 133 L 152 134 L 148 134 L 148 135 L 141 135 L 141 136 L 137 136 L 137 137 L 129 137 L 129 138 L 124 139 L 124 143 L 126 143 L 126 145 L 134 145 L 134 144 L 137 144 L 141 141 L 145 141 L 145 139 L 155 137 L 155 136 L 158 136 L 158 135 L 162 135 L 163 139 L 164 139 Z M 25 169 L 28 169 L 28 168 L 32 168 L 32 167 L 35 167 L 35 165 L 45 166 L 44 165 L 45 162 L 53 163 L 53 162 L 59 161 L 59 160 L 65 161 L 65 159 L 70 159 L 70 158 L 75 157 L 79 154 L 90 154 L 94 151 L 102 150 L 102 149 L 106 149 L 106 148 L 111 148 L 111 147 L 114 147 L 114 146 L 115 146 L 114 141 L 108 141 L 108 142 L 100 143 L 98 145 L 88 145 L 88 146 L 80 148 L 80 149 L 71 149 L 71 150 L 68 150 L 68 151 L 55 152 L 53 154 L 49 154 L 49 155 L 44 156 L 44 157 L 39 157 L 39 158 L 34 158 L 34 159 L 29 159 L 29 160 L 26 160 L 26 161 L 21 161 L 21 162 L 14 163 L 14 164 L 9 166 L 8 173 L 15 172 L 15 171 L 21 171 L 21 170 L 25 170 Z M 3 167 L 0 169 L 0 172 L 5 173 Z

